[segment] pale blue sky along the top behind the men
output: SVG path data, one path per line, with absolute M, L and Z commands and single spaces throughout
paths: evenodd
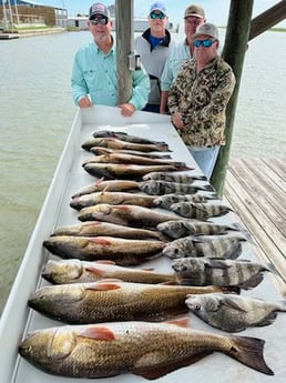
M 34 2 L 67 8 L 69 16 L 74 16 L 88 13 L 90 6 L 96 0 L 34 0 Z M 106 6 L 115 3 L 115 1 L 110 0 L 102 0 L 102 2 Z M 134 16 L 147 16 L 152 2 L 153 0 L 134 0 Z M 205 9 L 208 21 L 217 26 L 226 26 L 227 23 L 229 0 L 194 0 L 193 2 L 192 0 L 165 0 L 163 2 L 166 6 L 170 20 L 174 23 L 182 22 L 184 9 L 192 3 L 198 3 Z M 279 0 L 254 0 L 253 18 L 278 2 Z M 284 20 L 278 26 L 286 28 L 286 21 Z

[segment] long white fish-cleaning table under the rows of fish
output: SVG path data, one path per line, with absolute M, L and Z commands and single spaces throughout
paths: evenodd
M 91 380 L 85 379 L 67 379 L 43 373 L 19 355 L 18 346 L 27 333 L 32 330 L 61 325 L 60 322 L 48 319 L 29 309 L 28 300 L 35 289 L 48 284 L 41 278 L 41 270 L 47 260 L 51 258 L 51 254 L 43 249 L 43 241 L 57 228 L 79 223 L 78 213 L 69 205 L 71 195 L 81 188 L 94 182 L 94 177 L 88 174 L 82 169 L 82 163 L 90 157 L 90 153 L 81 149 L 81 143 L 90 139 L 92 133 L 100 129 L 124 131 L 143 138 L 165 141 L 172 150 L 172 159 L 185 161 L 187 165 L 194 167 L 194 170 L 187 171 L 190 174 L 202 175 L 201 170 L 171 124 L 168 115 L 136 111 L 133 117 L 123 118 L 120 114 L 119 108 L 103 105 L 76 110 L 65 147 L 2 312 L 0 322 L 1 383 L 91 382 Z M 224 224 L 233 223 L 235 220 L 234 213 L 217 218 L 217 222 Z M 243 246 L 243 258 L 256 260 L 247 243 L 244 243 Z M 170 271 L 170 263 L 165 259 L 160 258 L 144 263 L 144 268 L 154 268 L 155 270 L 167 272 Z M 282 300 L 267 274 L 264 281 L 255 288 L 255 291 L 243 293 L 272 301 Z M 194 315 L 188 314 L 188 316 L 191 318 L 193 329 L 221 333 L 218 330 L 207 326 Z M 285 316 L 280 314 L 272 325 L 247 329 L 239 333 L 239 335 L 261 337 L 266 341 L 264 350 L 265 360 L 275 372 L 274 377 L 251 370 L 226 355 L 213 353 L 193 365 L 176 370 L 154 382 L 200 381 L 201 383 L 210 383 L 212 380 L 219 383 L 228 383 L 231 379 L 237 383 L 242 382 L 242 380 L 244 383 L 258 381 L 259 383 L 284 383 Z M 142 377 L 133 374 L 122 374 L 100 380 L 100 382 L 106 383 L 136 383 L 142 381 Z

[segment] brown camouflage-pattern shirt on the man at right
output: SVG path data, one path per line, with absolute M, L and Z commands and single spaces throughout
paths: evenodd
M 225 143 L 225 110 L 234 85 L 232 68 L 218 56 L 198 73 L 196 59 L 182 65 L 167 102 L 171 114 L 183 114 L 186 128 L 178 133 L 186 145 L 211 148 Z

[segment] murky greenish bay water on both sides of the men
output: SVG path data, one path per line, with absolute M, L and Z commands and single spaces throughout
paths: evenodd
M 90 40 L 89 32 L 63 32 L 0 41 L 0 312 L 75 114 L 73 56 Z M 283 32 L 249 42 L 232 157 L 286 158 L 285 47 Z

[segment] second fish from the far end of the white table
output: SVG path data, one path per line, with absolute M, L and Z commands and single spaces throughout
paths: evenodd
M 113 137 L 108 138 L 93 138 L 90 139 L 81 145 L 82 149 L 90 151 L 92 147 L 103 147 L 110 149 L 127 149 L 127 150 L 139 150 L 142 152 L 171 152 L 167 143 L 134 143 L 119 140 Z

